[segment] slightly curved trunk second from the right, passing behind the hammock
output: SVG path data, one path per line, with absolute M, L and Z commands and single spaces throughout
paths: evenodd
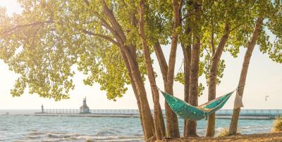
M 219 45 L 216 48 L 216 51 L 214 52 L 214 55 L 212 57 L 212 67 L 209 70 L 209 93 L 208 93 L 208 99 L 209 101 L 212 101 L 214 98 L 216 98 L 216 77 L 217 77 L 217 70 L 219 68 L 219 61 L 221 58 L 221 54 L 223 52 L 224 46 L 226 45 L 226 41 L 229 37 L 229 30 L 230 27 L 228 23 L 225 24 L 225 34 L 221 37 L 221 40 L 219 41 Z M 206 136 L 214 136 L 214 127 L 215 127 L 215 113 L 212 113 L 209 115 L 209 120 L 207 122 L 207 131 Z

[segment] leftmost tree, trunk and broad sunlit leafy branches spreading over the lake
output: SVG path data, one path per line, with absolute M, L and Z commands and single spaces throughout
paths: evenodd
M 86 74 L 89 71 L 93 73 L 85 83 L 99 82 L 101 89 L 107 91 L 108 98 L 115 99 L 125 93 L 124 85 L 130 79 L 137 93 L 137 103 L 140 103 L 145 139 L 154 136 L 154 121 L 142 69 L 138 65 L 142 58 L 137 54 L 137 41 L 129 40 L 130 36 L 137 34 L 132 20 L 133 8 L 122 1 L 44 1 L 44 4 L 22 1 L 22 4 L 23 13 L 14 15 L 14 21 L 1 27 L 1 58 L 21 75 L 11 93 L 19 96 L 28 86 L 30 93 L 38 93 L 42 97 L 57 101 L 68 98 L 68 91 L 74 87 L 71 66 L 75 63 L 85 65 L 79 60 L 88 58 L 86 55 L 89 53 L 85 53 L 87 50 L 84 49 L 91 49 L 94 51 L 93 60 L 90 58 L 90 63 L 86 64 L 91 65 L 86 68 L 80 66 Z M 124 8 L 128 11 L 123 11 Z M 92 49 L 92 46 L 96 48 Z M 108 54 L 96 52 L 100 50 L 99 46 L 104 47 Z M 81 53 L 82 56 L 79 56 Z M 114 55 L 124 64 L 111 64 Z M 118 67 L 125 67 L 128 72 L 123 74 L 116 70 Z M 125 78 L 121 79 L 123 76 Z

